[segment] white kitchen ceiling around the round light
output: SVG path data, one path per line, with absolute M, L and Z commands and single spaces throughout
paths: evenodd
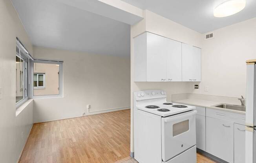
M 239 13 L 215 18 L 213 9 L 226 0 L 122 0 L 147 9 L 199 33 L 213 31 L 227 25 L 256 17 L 256 0 L 247 0 Z

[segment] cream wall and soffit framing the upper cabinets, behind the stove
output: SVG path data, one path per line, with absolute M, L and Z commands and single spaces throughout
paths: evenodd
M 151 11 L 144 11 L 144 20 L 131 26 L 131 152 L 133 152 L 133 92 L 144 89 L 163 89 L 167 100 L 172 94 L 188 93 L 191 90 L 189 82 L 133 82 L 133 37 L 148 31 L 179 42 L 202 47 L 202 34 L 159 16 Z

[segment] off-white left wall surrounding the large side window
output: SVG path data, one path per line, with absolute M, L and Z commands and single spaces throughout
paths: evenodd
M 32 56 L 33 51 L 10 0 L 0 0 L 0 24 L 0 162 L 16 163 L 33 124 L 33 101 L 16 117 L 16 36 Z

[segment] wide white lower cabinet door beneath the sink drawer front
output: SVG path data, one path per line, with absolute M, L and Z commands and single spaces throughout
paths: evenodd
M 206 152 L 234 163 L 234 124 L 206 117 Z

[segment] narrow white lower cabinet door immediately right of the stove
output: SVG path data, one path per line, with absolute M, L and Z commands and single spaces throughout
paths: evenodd
M 196 114 L 196 147 L 205 151 L 205 116 Z

